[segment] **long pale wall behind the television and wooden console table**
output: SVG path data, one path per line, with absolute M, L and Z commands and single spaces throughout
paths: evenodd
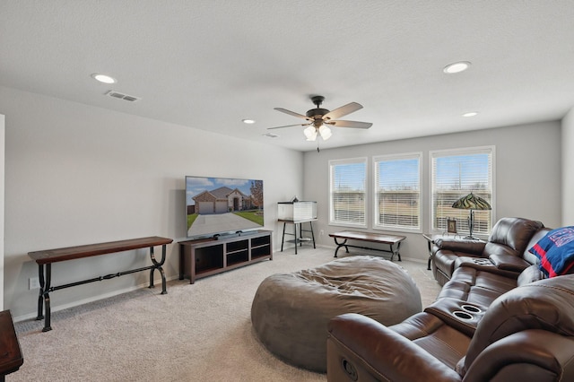
M 15 319 L 35 317 L 37 308 L 38 291 L 28 290 L 38 274 L 30 251 L 155 235 L 185 239 L 186 175 L 263 179 L 265 228 L 274 230 L 274 247 L 281 242 L 276 203 L 302 194 L 301 152 L 3 87 L 0 113 L 4 301 Z M 53 284 L 150 265 L 147 253 L 56 264 Z M 177 244 L 169 246 L 164 269 L 177 277 Z M 134 273 L 55 291 L 52 307 L 133 289 L 148 278 Z

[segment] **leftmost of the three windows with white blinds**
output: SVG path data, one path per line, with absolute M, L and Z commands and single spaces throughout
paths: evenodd
M 367 158 L 329 161 L 329 223 L 366 227 Z

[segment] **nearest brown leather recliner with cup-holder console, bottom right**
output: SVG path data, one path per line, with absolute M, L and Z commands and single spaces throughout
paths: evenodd
M 335 317 L 327 380 L 574 380 L 574 275 L 519 286 L 471 319 L 446 313 L 457 300 L 436 303 L 396 326 Z

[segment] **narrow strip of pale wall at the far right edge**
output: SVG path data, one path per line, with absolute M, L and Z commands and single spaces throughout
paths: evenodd
M 574 225 L 574 109 L 562 119 L 562 224 Z

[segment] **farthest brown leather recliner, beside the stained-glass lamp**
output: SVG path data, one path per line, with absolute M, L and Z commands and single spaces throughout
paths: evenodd
M 489 265 L 496 265 L 506 275 L 517 277 L 529 265 L 527 254 L 529 241 L 536 233 L 544 236 L 540 221 L 524 218 L 502 218 L 492 227 L 488 241 L 445 238 L 438 239 L 432 248 L 432 273 L 440 285 L 450 280 L 452 273 L 460 265 L 459 259 L 473 257 L 483 259 Z M 458 261 L 458 263 L 457 263 Z M 480 263 L 480 262 L 477 262 Z

